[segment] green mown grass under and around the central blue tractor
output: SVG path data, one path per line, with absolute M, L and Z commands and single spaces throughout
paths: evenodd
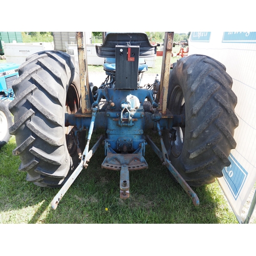
M 175 59 L 174 59 L 175 60 Z M 158 73 L 157 57 L 153 73 Z M 89 66 L 89 72 L 102 66 Z M 161 72 L 161 69 L 160 69 Z M 96 131 L 90 146 L 102 131 Z M 155 141 L 158 136 L 153 134 Z M 148 168 L 130 173 L 131 197 L 119 198 L 119 172 L 102 169 L 101 145 L 83 169 L 56 210 L 50 208 L 56 188 L 37 187 L 19 172 L 19 157 L 12 156 L 14 136 L 0 151 L 0 223 L 238 223 L 215 183 L 194 188 L 200 205 L 195 207 L 181 186 L 168 175 L 150 146 L 146 146 Z M 106 208 L 108 210 L 106 210 Z

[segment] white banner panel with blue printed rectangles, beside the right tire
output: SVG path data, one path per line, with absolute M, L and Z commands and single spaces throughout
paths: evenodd
M 239 223 L 248 223 L 256 200 L 254 194 L 248 211 L 246 202 L 256 181 L 256 32 L 191 32 L 191 54 L 219 60 L 233 79 L 232 90 L 238 97 L 237 147 L 229 156 L 231 165 L 218 180 Z

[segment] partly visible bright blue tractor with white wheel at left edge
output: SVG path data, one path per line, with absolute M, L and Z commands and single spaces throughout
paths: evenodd
M 10 139 L 13 122 L 8 105 L 14 99 L 12 83 L 18 77 L 18 67 L 16 63 L 0 63 L 0 148 Z

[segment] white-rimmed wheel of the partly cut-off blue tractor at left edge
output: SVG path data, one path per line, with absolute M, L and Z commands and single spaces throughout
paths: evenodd
M 9 100 L 0 100 L 0 149 L 9 140 L 11 135 L 9 134 L 9 128 L 13 124 L 12 115 L 8 109 Z

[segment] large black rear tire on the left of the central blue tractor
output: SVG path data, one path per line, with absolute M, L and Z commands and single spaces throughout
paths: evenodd
M 16 98 L 9 109 L 14 124 L 9 132 L 16 137 L 13 155 L 22 162 L 19 170 L 38 186 L 62 186 L 78 163 L 74 129 L 65 127 L 65 113 L 80 107 L 74 61 L 59 51 L 33 54 L 19 67 L 13 90 Z

